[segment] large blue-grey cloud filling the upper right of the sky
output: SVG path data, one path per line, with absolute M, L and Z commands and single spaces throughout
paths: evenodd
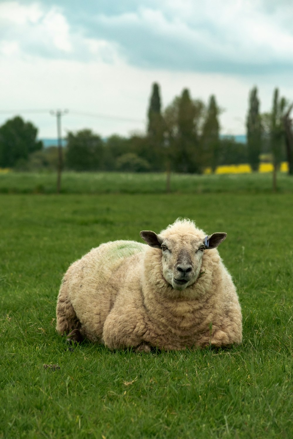
M 239 74 L 293 67 L 292 30 L 247 1 L 163 1 L 160 9 L 140 6 L 93 20 L 96 35 L 119 41 L 141 67 Z

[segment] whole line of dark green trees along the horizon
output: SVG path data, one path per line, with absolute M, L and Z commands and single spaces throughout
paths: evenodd
M 146 133 L 102 139 L 92 130 L 68 132 L 65 169 L 75 171 L 128 171 L 203 173 L 217 166 L 250 163 L 257 170 L 261 154 L 272 158 L 275 171 L 282 160 L 293 174 L 293 134 L 289 105 L 275 89 L 271 112 L 260 113 L 257 87 L 249 94 L 246 118 L 247 144 L 220 137 L 221 108 L 216 97 L 207 104 L 193 99 L 188 89 L 162 110 L 159 84 L 152 85 Z M 0 126 L 0 167 L 56 169 L 57 147 L 44 148 L 37 128 L 20 116 Z

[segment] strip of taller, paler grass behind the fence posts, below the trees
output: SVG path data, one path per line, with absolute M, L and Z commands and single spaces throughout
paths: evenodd
M 54 194 L 55 173 L 0 173 L 2 194 Z M 293 177 L 278 173 L 279 192 L 293 191 Z M 271 173 L 223 175 L 171 175 L 171 192 L 202 194 L 211 192 L 269 193 L 272 190 Z M 74 173 L 64 172 L 61 179 L 64 194 L 158 194 L 166 192 L 164 173 Z

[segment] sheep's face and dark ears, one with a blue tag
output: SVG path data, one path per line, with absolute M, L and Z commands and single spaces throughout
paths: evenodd
M 141 231 L 142 239 L 162 252 L 163 277 L 175 290 L 184 290 L 197 280 L 203 252 L 216 248 L 226 236 L 214 233 L 200 239 L 193 234 L 171 234 L 163 238 L 150 230 Z

